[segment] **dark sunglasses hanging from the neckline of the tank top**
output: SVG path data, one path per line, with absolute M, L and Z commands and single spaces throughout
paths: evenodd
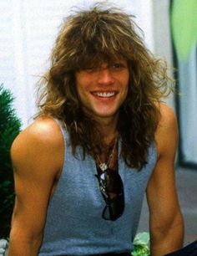
M 106 206 L 102 213 L 105 220 L 116 220 L 124 212 L 124 186 L 119 172 L 109 168 L 97 175 L 100 192 Z

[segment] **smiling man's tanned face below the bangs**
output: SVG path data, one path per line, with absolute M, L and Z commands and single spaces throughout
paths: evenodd
M 75 74 L 83 110 L 95 120 L 118 116 L 129 87 L 129 68 L 125 59 L 81 69 Z

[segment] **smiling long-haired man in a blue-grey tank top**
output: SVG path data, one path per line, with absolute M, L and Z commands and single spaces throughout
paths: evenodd
M 145 192 L 151 255 L 182 247 L 169 78 L 135 28 L 99 6 L 63 23 L 38 116 L 12 146 L 9 256 L 129 255 Z

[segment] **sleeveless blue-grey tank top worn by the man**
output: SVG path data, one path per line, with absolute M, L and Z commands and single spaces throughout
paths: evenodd
M 125 207 L 116 221 L 104 220 L 104 198 L 95 177 L 92 156 L 83 160 L 78 146 L 72 155 L 69 136 L 60 124 L 66 150 L 61 176 L 48 204 L 43 242 L 39 256 L 91 255 L 131 252 L 144 193 L 156 162 L 154 144 L 149 147 L 148 164 L 138 172 L 129 168 L 119 156 L 119 175 L 124 183 Z M 119 140 L 119 151 L 121 141 Z

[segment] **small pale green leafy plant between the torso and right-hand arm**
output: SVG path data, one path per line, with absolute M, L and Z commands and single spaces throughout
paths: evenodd
M 134 251 L 132 256 L 149 256 L 149 233 L 138 233 L 134 238 Z

